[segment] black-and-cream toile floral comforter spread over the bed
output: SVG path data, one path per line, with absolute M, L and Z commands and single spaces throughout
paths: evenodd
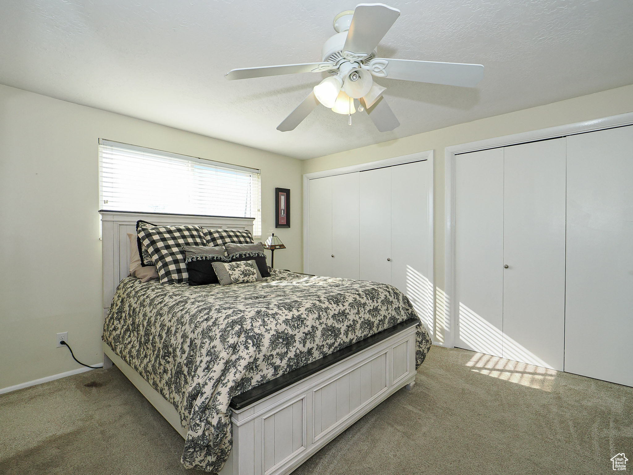
M 282 270 L 229 286 L 119 284 L 103 341 L 180 414 L 182 464 L 219 472 L 232 447 L 232 396 L 417 317 L 398 289 Z M 430 347 L 422 324 L 416 366 Z

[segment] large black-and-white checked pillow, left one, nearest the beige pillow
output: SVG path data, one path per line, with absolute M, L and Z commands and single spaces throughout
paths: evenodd
M 184 246 L 206 246 L 204 231 L 199 226 L 148 227 L 139 231 L 139 238 L 156 263 L 161 284 L 187 282 Z

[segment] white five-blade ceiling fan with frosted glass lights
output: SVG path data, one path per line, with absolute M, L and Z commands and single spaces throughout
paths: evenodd
M 474 87 L 484 77 L 482 65 L 377 58 L 376 47 L 398 16 L 398 9 L 382 3 L 358 4 L 356 9 L 334 17 L 337 34 L 323 45 L 320 63 L 232 69 L 225 77 L 233 80 L 325 71 L 331 76 L 315 85 L 277 130 L 294 130 L 319 104 L 348 115 L 349 125 L 351 115 L 364 110 L 380 132 L 393 130 L 400 122 L 382 97 L 386 88 L 376 84 L 372 76 L 462 87 Z

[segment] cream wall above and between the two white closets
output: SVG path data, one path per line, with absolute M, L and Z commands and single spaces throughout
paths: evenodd
M 421 113 L 423 109 L 421 108 Z M 423 134 L 396 139 L 377 145 L 357 148 L 333 155 L 305 160 L 303 173 L 347 167 L 358 163 L 373 162 L 409 153 L 435 151 L 434 219 L 435 219 L 435 283 L 437 301 L 444 291 L 444 148 L 483 139 L 501 137 L 529 130 L 545 129 L 555 125 L 573 124 L 610 115 L 633 111 L 633 85 L 597 92 L 588 96 L 568 99 L 545 106 L 520 110 L 474 122 L 432 130 Z M 437 322 L 444 322 L 436 309 Z M 436 339 L 443 342 L 443 327 L 437 327 Z

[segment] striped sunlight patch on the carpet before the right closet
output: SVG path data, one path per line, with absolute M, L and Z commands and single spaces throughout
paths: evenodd
M 484 353 L 475 353 L 466 365 L 472 368 L 470 371 L 548 392 L 552 390 L 554 379 L 558 374 L 553 369 L 485 355 Z

